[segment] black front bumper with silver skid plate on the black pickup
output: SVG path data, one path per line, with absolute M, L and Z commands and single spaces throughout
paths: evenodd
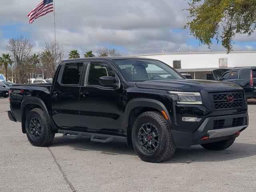
M 234 118 L 243 118 L 242 124 L 239 126 L 232 126 L 232 120 L 234 120 Z M 224 120 L 224 128 L 214 129 L 214 122 L 216 120 Z M 235 133 L 247 128 L 248 124 L 248 113 L 214 116 L 206 118 L 201 126 L 194 132 L 171 130 L 171 133 L 176 146 L 189 147 L 192 145 L 205 144 L 237 137 L 239 134 Z M 208 139 L 201 140 L 206 136 Z

